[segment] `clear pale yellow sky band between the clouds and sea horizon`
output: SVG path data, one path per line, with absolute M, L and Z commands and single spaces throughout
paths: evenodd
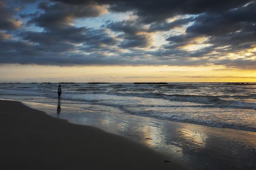
M 8 71 L 6 71 L 8 70 Z M 2 65 L 4 82 L 256 82 L 256 71 L 221 67 Z

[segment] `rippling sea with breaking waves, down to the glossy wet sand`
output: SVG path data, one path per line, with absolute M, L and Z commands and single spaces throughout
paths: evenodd
M 0 84 L 4 99 L 52 103 L 58 84 Z M 110 110 L 213 127 L 256 131 L 256 85 L 171 83 L 169 85 L 62 84 L 66 106 Z M 70 105 L 69 105 L 70 104 Z M 89 108 L 87 108 L 87 106 Z

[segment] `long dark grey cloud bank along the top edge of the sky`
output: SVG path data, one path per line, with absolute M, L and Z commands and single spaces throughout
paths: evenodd
M 250 0 L 54 0 L 66 4 L 108 4 L 110 11 L 134 11 L 144 23 L 172 18 L 177 14 L 222 13 L 250 2 Z

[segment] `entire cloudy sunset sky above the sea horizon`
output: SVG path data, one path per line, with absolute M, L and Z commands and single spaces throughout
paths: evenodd
M 0 82 L 256 82 L 256 1 L 0 0 Z

